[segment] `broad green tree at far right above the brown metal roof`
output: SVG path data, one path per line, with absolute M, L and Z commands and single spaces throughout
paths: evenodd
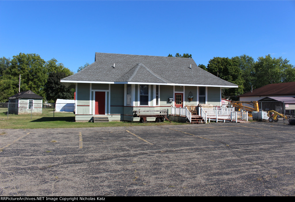
M 255 88 L 265 86 L 267 84 L 282 83 L 287 80 L 292 80 L 292 77 L 286 76 L 286 72 L 291 72 L 292 64 L 289 60 L 279 58 L 272 58 L 271 55 L 258 57 L 258 61 L 254 65 L 255 69 Z

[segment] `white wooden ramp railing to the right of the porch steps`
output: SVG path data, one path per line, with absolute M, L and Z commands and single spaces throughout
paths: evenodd
M 207 119 L 212 118 L 216 119 L 230 119 L 235 120 L 242 119 L 248 121 L 248 112 L 247 111 L 234 111 L 234 108 L 202 108 L 199 107 L 199 111 L 201 112 L 201 116 L 205 119 L 206 123 Z

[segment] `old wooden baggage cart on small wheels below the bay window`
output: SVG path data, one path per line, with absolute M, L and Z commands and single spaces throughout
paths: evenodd
M 156 117 L 156 122 L 164 122 L 167 118 L 167 109 L 159 109 L 159 110 L 138 110 L 134 111 L 133 117 L 140 117 L 140 123 L 147 123 L 148 117 Z M 168 120 L 169 121 L 169 120 Z

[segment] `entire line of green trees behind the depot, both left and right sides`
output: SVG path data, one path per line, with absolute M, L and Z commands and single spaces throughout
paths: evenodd
M 173 57 L 171 54 L 168 57 Z M 179 54 L 175 57 L 192 58 L 191 54 Z M 89 64 L 78 67 L 81 71 Z M 239 88 L 222 89 L 222 98 L 238 100 L 237 96 L 267 84 L 295 81 L 295 68 L 289 60 L 272 58 L 271 55 L 258 57 L 257 61 L 248 55 L 214 57 L 208 65 L 199 64 L 200 68 L 215 76 L 237 84 Z M 56 59 L 43 60 L 38 54 L 20 53 L 12 59 L 0 58 L 0 102 L 18 92 L 19 74 L 20 91 L 31 90 L 44 97 L 48 102 L 56 99 L 73 99 L 74 89 L 68 89 L 60 79 L 74 74 Z

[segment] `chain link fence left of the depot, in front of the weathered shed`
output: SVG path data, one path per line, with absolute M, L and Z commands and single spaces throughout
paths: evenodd
M 0 118 L 75 121 L 75 103 L 0 103 Z

